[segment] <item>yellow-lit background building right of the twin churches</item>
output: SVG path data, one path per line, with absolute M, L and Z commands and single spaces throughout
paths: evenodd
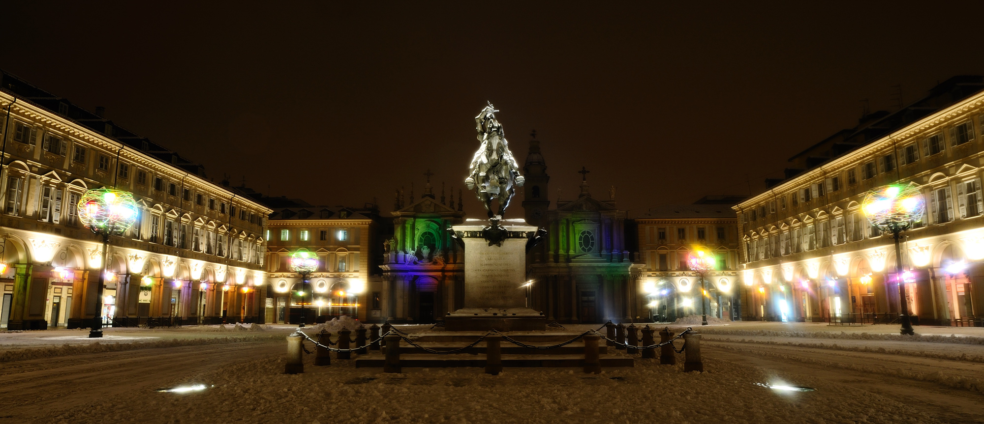
M 738 218 L 730 200 L 708 196 L 701 204 L 651 208 L 635 219 L 645 307 L 653 321 L 701 314 L 701 285 L 688 264 L 696 249 L 715 259 L 705 281 L 707 316 L 740 319 Z

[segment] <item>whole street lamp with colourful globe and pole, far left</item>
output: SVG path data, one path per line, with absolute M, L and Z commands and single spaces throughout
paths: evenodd
M 102 269 L 95 298 L 102 300 L 102 285 L 106 273 L 106 249 L 109 236 L 121 236 L 137 222 L 137 202 L 133 194 L 111 188 L 86 190 L 79 199 L 79 220 L 93 234 L 102 238 Z M 90 338 L 102 337 L 102 306 L 99 305 L 92 319 Z

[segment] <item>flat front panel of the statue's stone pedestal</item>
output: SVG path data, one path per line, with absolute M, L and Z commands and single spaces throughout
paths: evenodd
M 525 246 L 525 238 L 507 238 L 502 246 L 464 238 L 464 307 L 525 306 Z

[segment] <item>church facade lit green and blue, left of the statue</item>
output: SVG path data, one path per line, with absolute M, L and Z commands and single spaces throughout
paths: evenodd
M 430 174 L 428 172 L 428 174 Z M 429 176 L 428 176 L 429 179 Z M 464 304 L 464 251 L 446 229 L 464 222 L 451 190 L 438 198 L 428 182 L 420 199 L 398 190 L 394 236 L 383 253 L 384 315 L 392 322 L 434 322 Z

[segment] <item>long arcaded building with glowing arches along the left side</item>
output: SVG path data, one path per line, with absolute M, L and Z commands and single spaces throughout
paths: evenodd
M 0 328 L 89 327 L 148 317 L 262 322 L 263 230 L 271 209 L 201 165 L 0 71 Z M 79 222 L 89 188 L 130 191 L 137 224 L 101 240 Z

